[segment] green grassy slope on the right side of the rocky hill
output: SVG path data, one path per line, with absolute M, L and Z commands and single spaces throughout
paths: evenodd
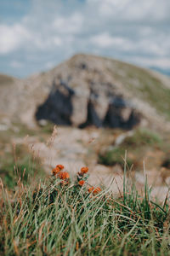
M 133 96 L 141 98 L 170 119 L 170 89 L 151 73 L 143 68 L 135 67 L 121 61 L 113 62 L 113 76 L 125 84 Z

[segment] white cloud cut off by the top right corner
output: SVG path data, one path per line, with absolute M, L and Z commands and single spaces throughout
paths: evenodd
M 96 7 L 100 15 L 113 20 L 163 20 L 169 18 L 168 0 L 88 0 L 90 8 Z

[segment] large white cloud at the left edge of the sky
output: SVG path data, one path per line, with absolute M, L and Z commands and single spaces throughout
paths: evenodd
M 49 14 L 49 18 L 50 14 Z M 0 55 L 9 54 L 18 49 L 25 52 L 54 50 L 65 47 L 76 40 L 76 34 L 82 32 L 83 17 L 73 13 L 70 16 L 54 15 L 53 19 L 42 20 L 41 15 L 27 15 L 20 23 L 0 25 Z M 34 24 L 41 24 L 40 27 Z

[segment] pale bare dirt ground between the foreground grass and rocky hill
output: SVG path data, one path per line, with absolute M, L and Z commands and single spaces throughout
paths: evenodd
M 132 131 L 131 131 L 132 132 Z M 36 156 L 42 160 L 45 171 L 50 174 L 52 168 L 57 164 L 65 166 L 65 170 L 71 176 L 79 172 L 82 166 L 88 166 L 88 183 L 91 185 L 104 184 L 110 188 L 115 195 L 122 195 L 123 188 L 123 168 L 119 165 L 104 166 L 98 162 L 99 149 L 109 145 L 111 142 L 120 143 L 126 137 L 128 131 L 119 135 L 111 134 L 96 128 L 77 129 L 72 127 L 56 127 L 51 137 L 46 136 L 41 142 L 38 137 L 25 137 L 15 139 L 14 143 L 25 143 Z M 153 158 L 153 153 L 148 158 Z M 155 154 L 160 154 L 156 153 Z M 158 161 L 159 157 L 153 158 Z M 143 160 L 141 160 L 143 161 Z M 144 163 L 147 166 L 147 163 Z M 150 166 L 150 165 L 148 165 Z M 152 197 L 157 197 L 164 201 L 170 185 L 170 171 L 161 168 L 160 172 L 156 168 L 144 169 L 136 172 L 127 172 L 131 177 L 131 183 L 135 183 L 139 192 L 144 191 L 144 175 L 147 175 L 149 187 L 152 187 Z

